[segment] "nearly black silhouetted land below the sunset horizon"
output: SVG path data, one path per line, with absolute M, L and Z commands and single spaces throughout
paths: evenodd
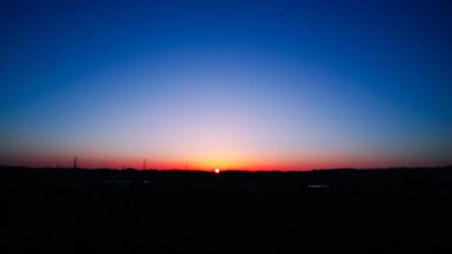
M 452 253 L 451 194 L 451 167 L 0 167 L 0 253 Z

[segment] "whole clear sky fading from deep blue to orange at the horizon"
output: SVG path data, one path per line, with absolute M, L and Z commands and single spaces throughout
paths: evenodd
M 451 7 L 1 1 L 0 165 L 450 165 Z

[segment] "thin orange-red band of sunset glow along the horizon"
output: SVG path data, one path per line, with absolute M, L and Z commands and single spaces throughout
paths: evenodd
M 147 169 L 157 170 L 202 170 L 212 172 L 215 168 L 228 169 L 232 171 L 305 171 L 312 169 L 332 169 L 332 168 L 376 168 L 391 166 L 417 166 L 431 165 L 442 166 L 431 161 L 413 161 L 412 158 L 391 157 L 385 155 L 290 155 L 290 156 L 270 156 L 270 155 L 250 155 L 243 154 L 217 154 L 217 155 L 179 155 L 159 156 L 158 158 L 146 155 L 114 155 L 95 154 L 89 151 L 68 152 L 64 151 L 55 154 L 25 154 L 15 156 L 5 163 L 5 165 L 24 165 L 35 167 L 59 166 L 71 167 L 74 156 L 78 155 L 78 166 L 80 168 L 143 168 L 143 161 L 146 159 Z

